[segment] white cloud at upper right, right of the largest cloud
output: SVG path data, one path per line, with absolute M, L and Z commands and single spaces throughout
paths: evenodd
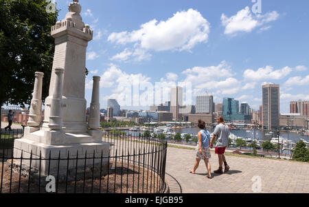
M 225 34 L 235 34 L 236 32 L 251 32 L 265 23 L 277 20 L 278 17 L 279 14 L 276 11 L 254 15 L 247 6 L 232 17 L 222 14 L 221 23 L 225 26 Z

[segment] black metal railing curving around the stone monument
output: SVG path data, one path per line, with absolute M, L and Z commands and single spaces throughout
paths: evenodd
M 104 132 L 106 152 L 43 157 L 0 154 L 0 193 L 163 193 L 168 144 L 159 138 Z M 12 146 L 12 145 L 10 145 Z

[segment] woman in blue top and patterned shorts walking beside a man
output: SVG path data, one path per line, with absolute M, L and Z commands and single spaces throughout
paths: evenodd
M 200 164 L 201 160 L 204 160 L 208 175 L 207 178 L 211 179 L 211 166 L 209 162 L 209 158 L 211 157 L 211 153 L 209 150 L 209 144 L 210 144 L 210 133 L 206 130 L 205 122 L 202 120 L 198 120 L 198 128 L 201 129 L 200 132 L 198 132 L 198 146 L 196 150 L 196 160 L 194 164 L 194 168 L 190 171 L 190 173 L 195 174 L 196 169 L 198 168 L 198 165 Z

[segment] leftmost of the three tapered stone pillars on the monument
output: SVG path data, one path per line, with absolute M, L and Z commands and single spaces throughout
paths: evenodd
M 42 86 L 44 74 L 42 72 L 36 72 L 35 76 L 28 120 L 28 126 L 30 127 L 39 127 L 42 122 Z

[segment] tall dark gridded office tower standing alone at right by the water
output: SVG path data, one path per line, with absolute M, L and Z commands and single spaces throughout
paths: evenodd
M 280 89 L 277 84 L 262 85 L 263 129 L 279 129 Z

